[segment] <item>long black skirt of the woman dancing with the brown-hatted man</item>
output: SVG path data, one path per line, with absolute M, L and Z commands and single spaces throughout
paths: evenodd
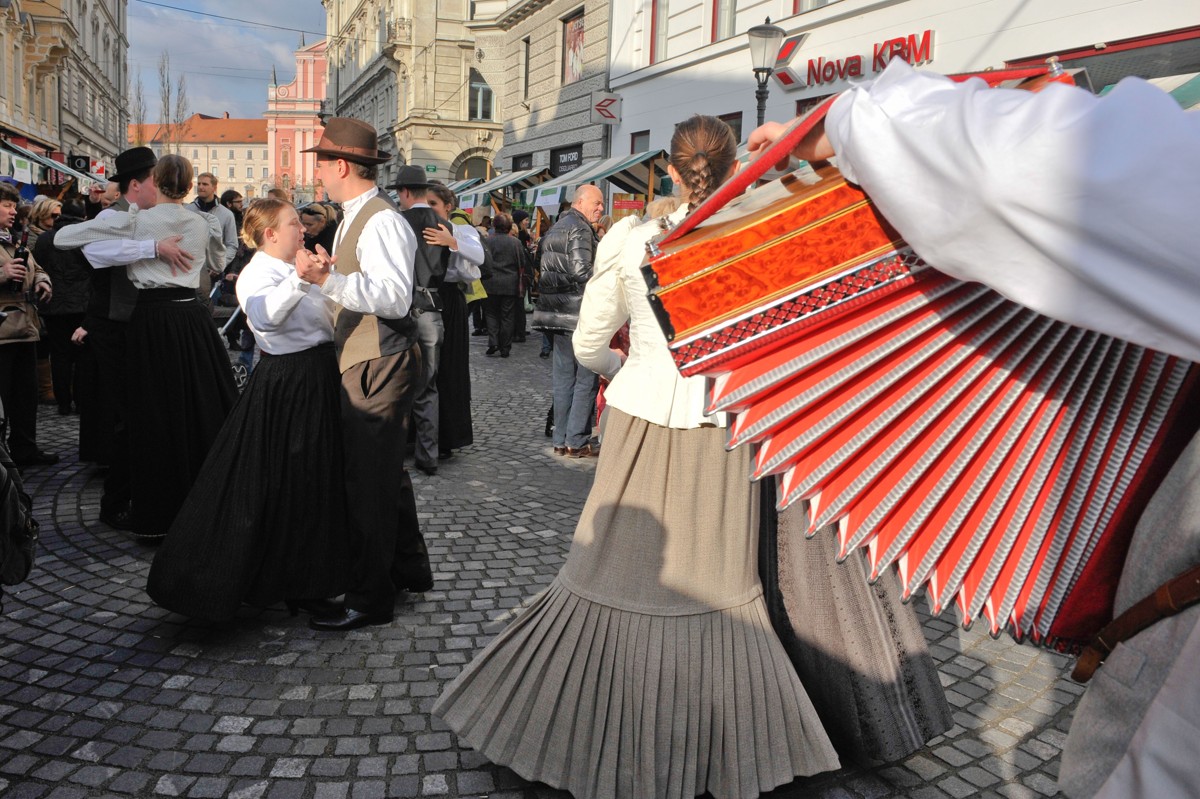
M 263 354 L 155 555 L 155 602 L 221 621 L 349 588 L 340 386 L 331 344 Z

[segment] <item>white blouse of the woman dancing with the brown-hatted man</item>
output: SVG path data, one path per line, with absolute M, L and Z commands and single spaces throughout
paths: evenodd
M 238 275 L 238 305 L 254 342 L 270 355 L 334 341 L 334 301 L 301 281 L 293 264 L 265 252 L 256 252 Z

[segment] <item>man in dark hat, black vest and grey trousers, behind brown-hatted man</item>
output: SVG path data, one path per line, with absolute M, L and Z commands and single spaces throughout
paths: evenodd
M 442 362 L 442 342 L 445 328 L 442 323 L 442 278 L 450 266 L 450 250 L 428 244 L 422 233 L 438 226 L 450 230 L 450 222 L 438 216 L 425 196 L 430 181 L 420 167 L 406 166 L 396 182 L 400 215 L 416 234 L 416 265 L 414 271 L 413 320 L 416 322 L 416 341 L 421 346 L 421 380 L 413 401 L 413 421 L 416 425 L 416 451 L 413 461 L 416 468 L 432 476 L 438 473 L 438 366 Z

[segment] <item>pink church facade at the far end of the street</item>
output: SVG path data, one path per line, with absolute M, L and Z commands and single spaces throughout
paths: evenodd
M 287 191 L 296 203 L 308 203 L 322 196 L 317 180 L 317 156 L 304 150 L 320 139 L 320 107 L 325 101 L 325 41 L 305 46 L 304 37 L 295 52 L 296 74 L 292 83 L 280 84 L 271 73 L 266 90 L 266 149 L 270 152 L 270 185 Z

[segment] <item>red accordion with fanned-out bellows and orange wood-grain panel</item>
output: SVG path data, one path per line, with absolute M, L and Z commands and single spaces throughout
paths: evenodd
M 994 635 L 1070 648 L 1111 618 L 1195 427 L 1190 362 L 937 272 L 835 170 L 743 196 L 643 271 L 680 371 L 810 535 Z

